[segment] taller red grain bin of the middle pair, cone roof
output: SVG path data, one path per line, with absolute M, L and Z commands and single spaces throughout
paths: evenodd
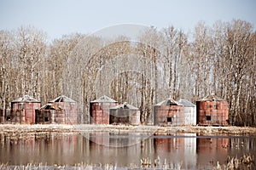
M 118 105 L 118 102 L 103 95 L 90 102 L 90 123 L 109 124 L 109 109 Z

